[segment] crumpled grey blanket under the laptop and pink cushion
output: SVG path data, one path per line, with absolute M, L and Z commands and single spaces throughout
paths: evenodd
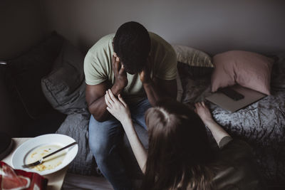
M 285 53 L 279 54 L 271 73 L 271 95 L 234 113 L 207 102 L 214 119 L 233 137 L 248 142 L 257 157 L 259 169 L 270 183 L 285 179 Z M 210 93 L 210 75 L 189 78 L 180 73 L 182 102 L 193 106 Z

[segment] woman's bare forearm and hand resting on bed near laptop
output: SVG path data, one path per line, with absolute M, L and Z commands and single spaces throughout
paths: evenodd
M 195 112 L 204 122 L 204 125 L 209 128 L 217 144 L 219 144 L 222 138 L 227 136 L 230 137 L 230 135 L 214 121 L 211 112 L 209 112 L 209 108 L 204 104 L 204 102 L 195 103 L 195 108 Z

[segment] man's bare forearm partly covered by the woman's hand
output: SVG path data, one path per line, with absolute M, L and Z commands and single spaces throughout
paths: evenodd
M 118 96 L 121 91 L 115 85 L 113 85 L 111 90 L 115 96 Z M 107 105 L 105 103 L 105 95 L 99 97 L 97 100 L 93 101 L 90 105 L 88 105 L 89 112 L 98 122 L 104 122 L 105 120 L 108 120 L 111 117 L 110 113 L 106 108 Z

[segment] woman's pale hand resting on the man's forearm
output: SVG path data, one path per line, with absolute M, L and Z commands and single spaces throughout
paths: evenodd
M 121 123 L 126 119 L 130 119 L 130 109 L 120 94 L 117 98 L 113 95 L 110 89 L 107 90 L 105 94 L 105 102 L 110 114 L 112 114 Z

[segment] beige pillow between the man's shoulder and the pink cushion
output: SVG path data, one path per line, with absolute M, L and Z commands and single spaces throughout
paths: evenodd
M 187 46 L 172 45 L 172 47 L 177 56 L 177 68 L 180 72 L 187 73 L 192 79 L 212 73 L 214 65 L 207 53 Z

